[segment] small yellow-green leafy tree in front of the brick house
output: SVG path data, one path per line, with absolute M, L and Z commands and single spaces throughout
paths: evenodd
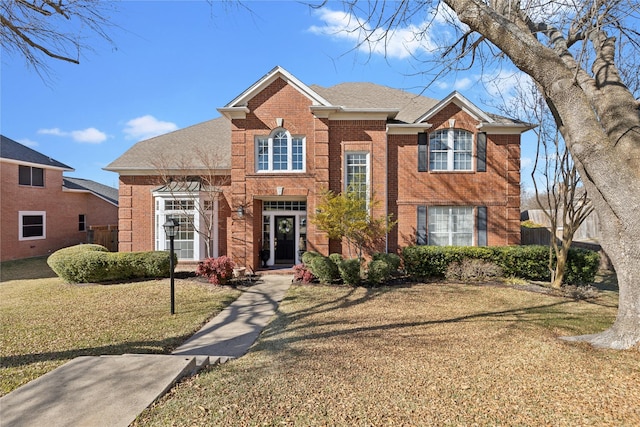
M 321 196 L 318 213 L 310 220 L 330 239 L 345 239 L 349 256 L 356 252 L 361 261 L 364 252 L 373 252 L 375 246 L 395 226 L 392 216 L 373 218 L 372 210 L 380 202 L 367 201 L 359 191 L 359 186 L 349 186 L 347 191 L 334 193 L 326 190 Z

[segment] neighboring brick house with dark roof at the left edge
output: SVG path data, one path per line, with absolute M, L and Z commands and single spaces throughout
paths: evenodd
M 5 136 L 0 163 L 1 261 L 86 243 L 91 225 L 118 223 L 117 189 L 65 177 L 74 169 Z

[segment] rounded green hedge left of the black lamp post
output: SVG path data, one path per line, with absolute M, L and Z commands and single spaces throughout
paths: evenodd
M 60 249 L 49 256 L 47 264 L 69 283 L 168 277 L 171 272 L 167 252 L 109 252 L 93 244 Z

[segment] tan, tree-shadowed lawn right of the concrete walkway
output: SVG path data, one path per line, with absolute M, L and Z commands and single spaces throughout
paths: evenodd
M 592 301 L 513 288 L 293 286 L 242 358 L 179 384 L 136 426 L 640 425 L 640 353 Z

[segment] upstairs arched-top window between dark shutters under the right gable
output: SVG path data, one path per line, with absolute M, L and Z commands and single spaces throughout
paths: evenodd
M 429 168 L 432 171 L 470 171 L 473 134 L 461 129 L 442 129 L 429 134 Z

